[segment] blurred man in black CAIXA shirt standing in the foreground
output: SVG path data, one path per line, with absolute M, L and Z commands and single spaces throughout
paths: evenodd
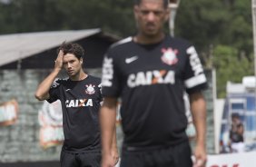
M 117 99 L 121 97 L 121 167 L 202 167 L 206 162 L 207 87 L 192 44 L 163 33 L 167 0 L 137 0 L 133 12 L 138 33 L 113 44 L 103 60 L 100 118 L 102 167 L 113 166 L 111 141 Z M 197 132 L 195 161 L 185 133 L 183 93 L 189 94 Z

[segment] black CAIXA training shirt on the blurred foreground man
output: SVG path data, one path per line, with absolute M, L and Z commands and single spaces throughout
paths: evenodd
M 158 147 L 187 140 L 183 93 L 206 87 L 192 44 L 165 37 L 136 44 L 132 37 L 113 44 L 103 60 L 103 96 L 121 97 L 124 145 Z

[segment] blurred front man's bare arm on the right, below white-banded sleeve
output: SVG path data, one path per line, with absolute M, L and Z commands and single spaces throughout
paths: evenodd
M 194 150 L 195 166 L 205 166 L 206 102 L 202 93 L 190 94 L 193 123 L 196 129 L 196 147 Z

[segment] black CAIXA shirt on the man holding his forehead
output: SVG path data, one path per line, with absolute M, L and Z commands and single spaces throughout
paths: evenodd
M 100 151 L 101 80 L 92 75 L 82 81 L 57 79 L 49 93 L 49 103 L 57 99 L 62 103 L 64 151 Z

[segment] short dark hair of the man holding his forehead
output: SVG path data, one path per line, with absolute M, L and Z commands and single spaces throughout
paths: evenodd
M 64 42 L 57 49 L 57 54 L 59 54 L 60 50 L 62 50 L 64 54 L 74 54 L 77 59 L 84 57 L 84 48 L 80 44 Z

